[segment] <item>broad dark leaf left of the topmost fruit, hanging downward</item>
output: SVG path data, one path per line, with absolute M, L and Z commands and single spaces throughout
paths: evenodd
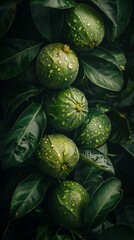
M 31 5 L 31 13 L 34 24 L 42 37 L 51 42 L 57 41 L 63 28 L 63 11 L 44 7 L 42 5 Z

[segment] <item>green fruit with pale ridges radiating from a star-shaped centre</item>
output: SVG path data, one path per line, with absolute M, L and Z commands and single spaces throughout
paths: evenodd
M 61 132 L 79 127 L 88 113 L 88 102 L 82 91 L 74 87 L 62 89 L 45 104 L 50 126 Z

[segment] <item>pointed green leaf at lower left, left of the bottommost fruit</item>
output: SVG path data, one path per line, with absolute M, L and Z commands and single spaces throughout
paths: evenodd
M 21 218 L 32 211 L 43 199 L 48 181 L 42 174 L 35 173 L 20 182 L 11 199 L 10 215 Z

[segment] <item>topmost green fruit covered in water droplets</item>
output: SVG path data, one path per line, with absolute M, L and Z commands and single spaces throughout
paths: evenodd
M 64 36 L 76 50 L 89 50 L 98 46 L 105 35 L 100 14 L 84 3 L 78 3 L 66 13 Z

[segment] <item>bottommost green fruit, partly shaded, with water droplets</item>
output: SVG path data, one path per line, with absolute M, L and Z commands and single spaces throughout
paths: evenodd
M 64 228 L 78 229 L 83 226 L 84 211 L 88 202 L 89 194 L 79 183 L 60 182 L 50 194 L 50 216 Z

